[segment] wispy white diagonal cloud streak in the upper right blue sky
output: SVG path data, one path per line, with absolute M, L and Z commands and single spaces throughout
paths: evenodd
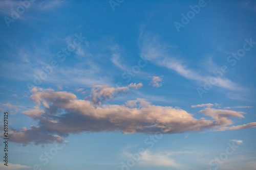
M 153 64 L 174 70 L 180 76 L 197 81 L 204 84 L 209 81 L 211 76 L 202 76 L 200 72 L 196 72 L 187 67 L 187 64 L 177 55 L 176 47 L 161 43 L 158 36 L 141 33 L 139 37 L 140 55 L 147 58 Z M 211 73 L 209 72 L 209 75 Z M 215 86 L 226 88 L 229 90 L 241 90 L 242 87 L 231 82 L 226 78 L 216 78 Z

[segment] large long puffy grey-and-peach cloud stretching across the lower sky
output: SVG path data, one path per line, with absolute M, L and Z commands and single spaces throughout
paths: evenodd
M 133 84 L 137 87 L 138 84 Z M 96 93 L 103 98 L 118 91 L 112 87 L 99 86 Z M 123 87 L 124 88 L 124 87 Z M 126 88 L 129 88 L 126 86 Z M 125 88 L 125 89 L 126 89 Z M 119 89 L 122 90 L 122 89 Z M 95 91 L 95 89 L 92 89 Z M 98 105 L 91 101 L 79 100 L 76 95 L 67 91 L 33 88 L 30 100 L 36 103 L 39 110 L 25 111 L 24 113 L 36 119 L 38 126 L 30 129 L 10 131 L 10 141 L 28 144 L 61 142 L 62 137 L 81 132 L 122 132 L 122 133 L 156 133 L 165 134 L 184 133 L 188 131 L 202 131 L 207 129 L 223 128 L 222 130 L 236 130 L 255 127 L 256 122 L 242 126 L 233 126 L 229 117 L 244 117 L 244 112 L 231 110 L 217 110 L 206 108 L 199 113 L 210 116 L 212 119 L 197 119 L 179 107 L 156 106 L 146 103 L 144 99 L 127 101 L 128 106 L 137 105 L 139 108 L 129 108 L 124 105 Z M 97 95 L 98 96 L 98 95 Z M 39 113 L 37 113 L 39 112 Z

